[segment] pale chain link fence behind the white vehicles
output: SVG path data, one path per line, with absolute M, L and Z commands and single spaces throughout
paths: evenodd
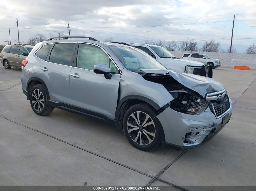
M 175 57 L 181 58 L 188 51 L 169 51 Z M 256 69 L 256 54 L 239 54 L 239 53 L 211 53 L 211 52 L 193 52 L 207 54 L 211 58 L 221 60 L 221 66 L 234 68 L 234 65 L 249 66 L 251 69 Z

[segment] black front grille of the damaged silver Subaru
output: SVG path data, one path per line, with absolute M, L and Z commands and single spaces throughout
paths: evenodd
M 218 103 L 211 103 L 211 110 L 217 118 L 219 118 L 223 113 L 225 113 L 230 108 L 228 95 L 225 95 L 224 98 Z

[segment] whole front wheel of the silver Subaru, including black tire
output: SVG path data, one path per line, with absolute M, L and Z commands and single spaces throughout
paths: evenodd
M 152 151 L 161 142 L 159 121 L 148 104 L 130 107 L 123 119 L 123 131 L 129 143 L 142 151 Z

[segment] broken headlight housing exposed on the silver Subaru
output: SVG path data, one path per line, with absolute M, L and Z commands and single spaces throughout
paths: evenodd
M 210 104 L 209 100 L 205 100 L 189 91 L 170 91 L 170 94 L 174 97 L 170 107 L 181 113 L 199 115 L 203 113 Z

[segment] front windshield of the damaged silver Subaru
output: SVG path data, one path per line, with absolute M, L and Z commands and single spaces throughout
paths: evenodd
M 131 72 L 141 72 L 141 69 L 166 68 L 144 51 L 125 46 L 108 45 L 120 62 Z

